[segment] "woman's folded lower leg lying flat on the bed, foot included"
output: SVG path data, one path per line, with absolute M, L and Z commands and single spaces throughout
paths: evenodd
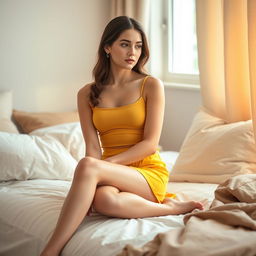
M 159 204 L 133 193 L 120 192 L 111 186 L 102 186 L 97 189 L 93 207 L 99 213 L 118 218 L 176 215 L 191 212 L 196 208 L 203 209 L 200 202 L 179 202 L 166 198 L 163 204 Z

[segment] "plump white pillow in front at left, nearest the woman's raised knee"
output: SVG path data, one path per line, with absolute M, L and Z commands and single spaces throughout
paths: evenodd
M 57 140 L 0 132 L 0 180 L 71 180 L 77 161 Z

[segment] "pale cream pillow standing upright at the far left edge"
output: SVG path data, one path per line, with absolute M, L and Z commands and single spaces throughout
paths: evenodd
M 17 127 L 11 121 L 12 91 L 0 92 L 0 131 L 18 133 Z

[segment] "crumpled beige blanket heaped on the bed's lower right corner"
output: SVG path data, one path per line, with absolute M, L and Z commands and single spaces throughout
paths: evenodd
M 220 184 L 207 211 L 184 217 L 185 227 L 158 234 L 142 248 L 127 245 L 119 256 L 255 256 L 256 174 Z

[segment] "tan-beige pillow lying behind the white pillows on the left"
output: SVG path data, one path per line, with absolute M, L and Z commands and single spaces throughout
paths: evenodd
M 72 112 L 38 112 L 13 111 L 13 118 L 21 132 L 30 133 L 36 129 L 63 123 L 78 122 L 77 111 Z

